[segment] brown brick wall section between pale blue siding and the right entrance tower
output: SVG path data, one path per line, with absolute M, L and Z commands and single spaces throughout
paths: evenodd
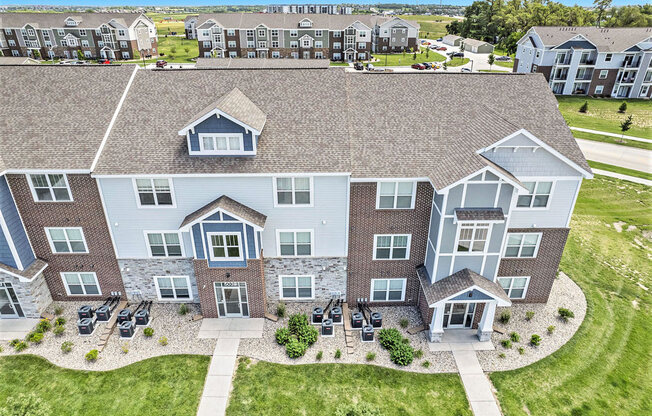
M 347 300 L 369 298 L 371 279 L 407 278 L 404 302 L 386 305 L 416 305 L 419 279 L 416 267 L 423 264 L 432 207 L 432 186 L 419 182 L 414 209 L 376 209 L 376 183 L 351 184 L 349 219 L 349 275 Z M 409 260 L 373 260 L 374 234 L 412 234 Z M 383 303 L 374 303 L 383 305 Z

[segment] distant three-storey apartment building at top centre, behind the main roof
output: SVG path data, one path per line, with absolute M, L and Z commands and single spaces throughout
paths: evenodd
M 355 61 L 415 48 L 419 33 L 416 22 L 371 15 L 207 14 L 186 22 L 193 27 L 205 58 Z

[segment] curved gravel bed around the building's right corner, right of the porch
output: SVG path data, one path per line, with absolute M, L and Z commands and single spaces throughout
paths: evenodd
M 573 311 L 574 318 L 564 322 L 559 318 L 557 310 L 567 308 Z M 497 308 L 496 324 L 500 313 L 506 308 Z M 496 346 L 495 351 L 478 351 L 478 359 L 484 371 L 503 371 L 525 367 L 532 364 L 561 348 L 571 339 L 575 331 L 580 327 L 586 315 L 586 298 L 582 289 L 575 282 L 563 273 L 555 279 L 547 304 L 514 304 L 511 308 L 512 318 L 505 325 L 506 333 L 501 335 L 494 332 L 491 341 Z M 528 311 L 534 312 L 534 317 L 527 321 L 525 314 Z M 548 326 L 554 325 L 552 334 L 548 333 Z M 521 336 L 520 342 L 512 342 L 511 348 L 505 348 L 501 341 L 509 338 L 509 334 L 516 332 Z M 530 345 L 530 337 L 537 334 L 541 337 L 538 347 Z M 519 347 L 524 348 L 520 354 Z M 504 358 L 500 354 L 505 354 Z

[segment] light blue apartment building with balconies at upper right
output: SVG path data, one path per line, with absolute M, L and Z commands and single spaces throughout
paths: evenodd
M 531 28 L 514 72 L 540 72 L 560 95 L 652 96 L 652 28 Z

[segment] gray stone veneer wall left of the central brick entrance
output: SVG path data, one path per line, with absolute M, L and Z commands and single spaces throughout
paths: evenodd
M 129 300 L 158 301 L 155 276 L 188 276 L 192 302 L 199 303 L 195 267 L 192 259 L 147 258 L 119 259 L 122 281 Z M 178 302 L 177 300 L 171 300 Z

